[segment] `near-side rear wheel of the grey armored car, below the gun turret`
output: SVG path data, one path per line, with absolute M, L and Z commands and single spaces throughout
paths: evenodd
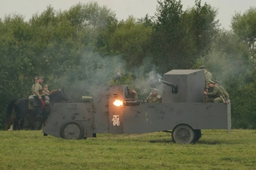
M 171 138 L 174 143 L 188 144 L 194 141 L 195 132 L 188 125 L 178 125 L 173 129 Z

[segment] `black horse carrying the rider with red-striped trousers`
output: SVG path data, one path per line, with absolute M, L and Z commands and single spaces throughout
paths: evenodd
M 61 101 L 69 102 L 71 98 L 68 96 L 68 94 L 62 89 L 62 91 L 55 91 L 53 94 L 49 96 L 50 98 L 50 104 L 45 103 L 45 107 L 43 108 L 42 115 L 43 117 L 39 120 L 40 129 L 43 125 L 43 123 L 47 120 L 50 112 L 51 112 L 51 106 L 53 106 L 54 103 L 60 103 Z M 15 111 L 16 117 L 14 120 L 12 120 L 12 111 Z M 7 112 L 5 114 L 5 129 L 9 129 L 11 124 L 13 124 L 13 130 L 22 129 L 21 124 L 19 122 L 22 122 L 24 120 L 24 117 L 29 118 L 28 120 L 37 120 L 36 118 L 37 109 L 29 109 L 29 100 L 28 99 L 13 99 L 10 101 L 7 107 Z M 31 122 L 30 122 L 31 123 Z M 34 127 L 33 127 L 34 128 Z

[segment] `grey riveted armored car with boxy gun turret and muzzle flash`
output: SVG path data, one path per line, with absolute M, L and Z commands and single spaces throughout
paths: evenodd
M 106 86 L 92 97 L 82 97 L 90 103 L 55 103 L 43 133 L 86 139 L 97 133 L 164 131 L 171 133 L 173 142 L 194 143 L 201 137 L 201 129 L 230 132 L 230 103 L 202 103 L 203 70 L 171 70 L 159 81 L 166 84 L 162 103 L 126 99 L 127 85 Z

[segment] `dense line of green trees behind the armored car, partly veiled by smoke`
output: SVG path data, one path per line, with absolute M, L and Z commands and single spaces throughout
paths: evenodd
M 79 101 L 81 94 L 117 84 L 117 72 L 122 84 L 136 89 L 151 73 L 206 65 L 230 95 L 233 128 L 255 129 L 256 8 L 234 13 L 229 31 L 217 14 L 201 0 L 186 10 L 180 0 L 158 0 L 154 16 L 121 21 L 93 1 L 63 11 L 47 6 L 28 21 L 6 15 L 0 19 L 0 128 L 8 102 L 27 98 L 34 76 L 43 75 L 50 90 L 63 87 Z

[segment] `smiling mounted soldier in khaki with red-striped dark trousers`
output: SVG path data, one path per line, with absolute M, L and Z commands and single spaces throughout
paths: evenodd
M 42 88 L 43 78 L 43 76 L 38 76 L 38 83 L 35 84 L 35 92 L 33 95 L 38 104 L 37 117 L 43 117 L 41 112 L 45 106 L 45 93 L 43 92 Z

